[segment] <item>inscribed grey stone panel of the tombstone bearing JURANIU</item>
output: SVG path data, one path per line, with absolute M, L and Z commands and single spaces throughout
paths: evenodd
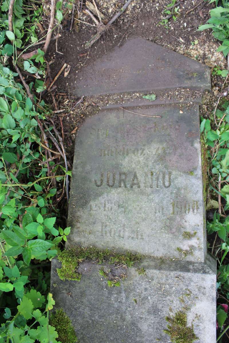
M 161 118 L 104 110 L 78 133 L 68 244 L 204 261 L 198 106 L 128 111 Z

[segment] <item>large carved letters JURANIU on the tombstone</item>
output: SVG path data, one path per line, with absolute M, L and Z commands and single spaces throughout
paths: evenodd
M 124 188 L 169 188 L 171 186 L 172 172 L 171 171 L 149 171 L 143 175 L 126 173 L 125 171 L 101 171 L 100 177 L 94 179 L 96 187 L 124 187 Z

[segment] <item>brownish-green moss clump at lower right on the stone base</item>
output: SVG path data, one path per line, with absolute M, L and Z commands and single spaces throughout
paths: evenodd
M 169 324 L 168 329 L 163 331 L 170 336 L 172 343 L 192 343 L 198 339 L 193 325 L 187 326 L 187 315 L 184 312 L 178 311 L 174 316 L 167 316 L 165 319 Z

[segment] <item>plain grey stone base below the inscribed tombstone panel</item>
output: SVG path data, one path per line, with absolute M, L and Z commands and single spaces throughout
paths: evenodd
M 210 256 L 205 263 L 147 259 L 112 288 L 99 274 L 102 265 L 82 263 L 80 282 L 61 281 L 60 266 L 52 261 L 51 293 L 80 343 L 169 343 L 165 317 L 178 311 L 187 314 L 187 326 L 193 324 L 194 342 L 216 342 L 216 263 Z M 136 269 L 142 267 L 146 274 L 139 275 Z

